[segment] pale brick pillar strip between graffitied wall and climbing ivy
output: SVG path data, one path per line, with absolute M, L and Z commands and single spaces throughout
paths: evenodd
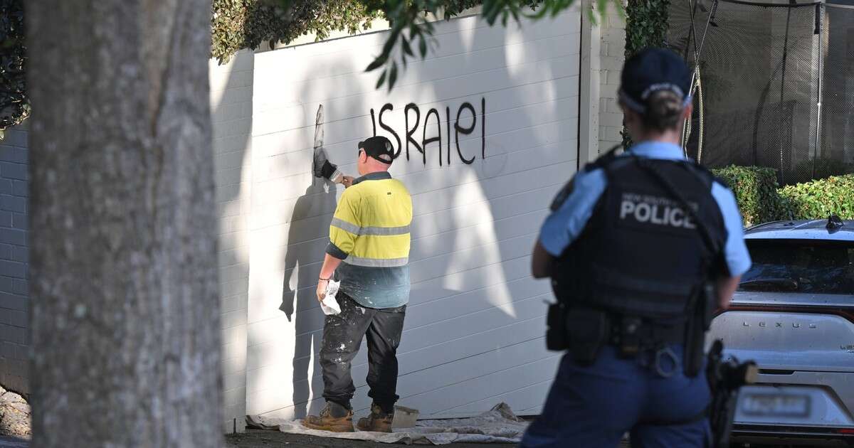
M 626 48 L 626 21 L 612 3 L 602 18 L 600 46 L 599 150 L 604 153 L 623 141 L 623 113 L 617 105 L 617 89 Z

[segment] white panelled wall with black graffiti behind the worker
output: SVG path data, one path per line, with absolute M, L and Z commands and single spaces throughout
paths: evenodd
M 403 137 L 410 102 L 420 111 L 418 143 L 427 111 L 439 112 L 442 166 L 432 143 L 426 163 L 412 147 L 407 160 L 404 147 L 391 170 L 415 208 L 401 404 L 422 416 L 477 413 L 500 401 L 539 410 L 558 355 L 542 340 L 551 293 L 530 278 L 529 253 L 553 194 L 576 171 L 579 16 L 521 30 L 476 17 L 437 22 L 439 46 L 412 61 L 390 94 L 374 89 L 377 73 L 363 73 L 383 32 L 255 55 L 247 413 L 299 417 L 323 403 L 316 360 L 323 315 L 313 295 L 341 190 L 313 184 L 310 174 L 319 105 L 330 159 L 354 174 L 356 143 L 372 133 L 371 109 L 378 119 L 393 105 L 383 122 Z M 459 147 L 475 160 L 462 163 L 452 145 L 448 164 L 446 108 L 453 126 L 463 102 L 477 123 Z M 471 125 L 470 113 L 460 125 Z M 431 118 L 427 137 L 435 126 Z M 395 142 L 378 123 L 377 131 Z M 364 410 L 364 350 L 353 373 L 354 406 Z

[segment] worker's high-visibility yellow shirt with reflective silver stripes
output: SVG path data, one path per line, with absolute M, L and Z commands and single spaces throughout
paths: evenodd
M 372 172 L 344 190 L 329 228 L 326 252 L 342 259 L 341 291 L 371 308 L 409 300 L 412 197 L 388 172 Z

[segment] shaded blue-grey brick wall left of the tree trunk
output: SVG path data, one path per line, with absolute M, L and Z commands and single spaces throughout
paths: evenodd
M 27 296 L 27 131 L 6 131 L 0 142 L 0 385 L 30 392 Z

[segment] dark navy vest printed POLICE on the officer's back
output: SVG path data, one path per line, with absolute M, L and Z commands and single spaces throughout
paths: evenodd
M 711 173 L 688 160 L 644 163 L 678 189 L 722 247 L 726 233 Z M 570 306 L 684 320 L 688 300 L 722 263 L 720 254 L 711 253 L 681 202 L 635 156 L 606 154 L 585 169 L 595 168 L 604 170 L 607 186 L 582 234 L 556 262 L 555 294 Z

